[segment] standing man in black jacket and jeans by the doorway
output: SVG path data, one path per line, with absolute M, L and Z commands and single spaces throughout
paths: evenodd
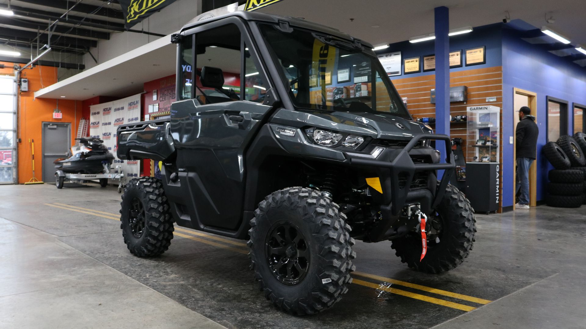
M 535 123 L 535 117 L 531 115 L 531 108 L 523 106 L 519 109 L 519 123 L 517 123 L 517 191 L 519 203 L 515 205 L 517 209 L 529 209 L 529 167 L 535 160 L 537 135 L 539 129 Z

